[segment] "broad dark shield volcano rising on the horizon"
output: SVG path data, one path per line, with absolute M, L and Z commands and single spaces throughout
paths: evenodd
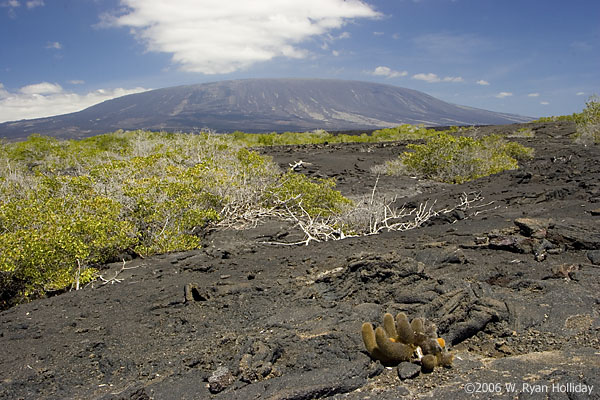
M 356 130 L 399 124 L 497 125 L 531 118 L 459 106 L 423 92 L 333 79 L 245 79 L 176 86 L 54 117 L 5 122 L 0 137 L 80 138 L 118 129 L 194 132 Z

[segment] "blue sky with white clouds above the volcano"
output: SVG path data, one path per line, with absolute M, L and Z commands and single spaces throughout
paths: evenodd
M 0 0 L 0 38 L 0 122 L 259 77 L 534 117 L 600 94 L 597 0 Z

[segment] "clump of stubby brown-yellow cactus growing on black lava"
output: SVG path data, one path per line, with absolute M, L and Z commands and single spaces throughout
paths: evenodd
M 404 313 L 395 319 L 385 313 L 383 327 L 373 329 L 368 322 L 362 325 L 362 338 L 371 357 L 385 365 L 416 361 L 421 363 L 423 372 L 452 365 L 454 356 L 446 349 L 444 339 L 437 337 L 436 325 L 423 318 L 409 323 Z

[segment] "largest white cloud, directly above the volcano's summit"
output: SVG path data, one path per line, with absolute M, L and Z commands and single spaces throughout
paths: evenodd
M 184 71 L 231 73 L 275 57 L 304 58 L 298 44 L 380 14 L 360 0 L 122 0 L 108 26 L 129 27 L 149 51 Z

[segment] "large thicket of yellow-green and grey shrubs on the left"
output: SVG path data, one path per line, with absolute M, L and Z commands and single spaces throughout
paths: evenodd
M 0 147 L 0 286 L 33 298 L 93 279 L 123 252 L 197 248 L 206 227 L 251 209 L 284 203 L 314 216 L 348 202 L 332 181 L 281 173 L 226 136 L 33 135 Z M 0 308 L 18 300 L 6 293 Z

